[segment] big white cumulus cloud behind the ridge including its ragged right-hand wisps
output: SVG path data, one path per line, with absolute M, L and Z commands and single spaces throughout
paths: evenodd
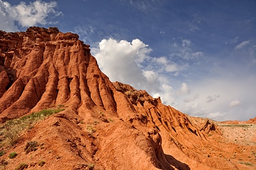
M 149 55 L 151 51 L 148 45 L 138 39 L 118 42 L 109 38 L 102 40 L 99 47 L 92 48 L 100 69 L 111 81 L 130 84 L 136 89 L 146 89 L 153 97 L 160 96 L 164 104 L 175 105 L 177 91 L 170 86 L 170 78 L 164 77 L 163 73 L 168 69 L 170 72 L 177 72 L 182 68 L 166 57 L 152 58 Z M 172 66 L 175 68 L 171 70 Z M 189 93 L 186 83 L 182 83 L 179 93 Z

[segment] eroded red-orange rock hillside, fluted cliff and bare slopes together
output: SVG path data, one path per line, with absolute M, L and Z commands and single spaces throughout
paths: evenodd
M 56 27 L 0 31 L 1 123 L 65 106 L 2 148 L 1 167 L 255 169 L 256 146 L 227 143 L 214 123 L 200 127 L 160 98 L 110 82 L 78 38 Z M 31 141 L 37 150 L 26 153 Z M 13 151 L 17 156 L 8 158 Z

